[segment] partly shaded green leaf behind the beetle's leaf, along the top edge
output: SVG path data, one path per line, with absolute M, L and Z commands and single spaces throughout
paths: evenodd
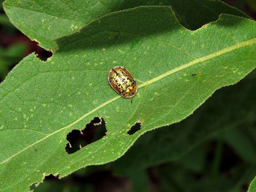
M 180 23 L 197 29 L 217 20 L 220 13 L 248 17 L 219 0 L 6 0 L 4 10 L 21 32 L 47 50 L 56 50 L 53 39 L 70 35 L 102 15 L 141 5 L 172 6 Z

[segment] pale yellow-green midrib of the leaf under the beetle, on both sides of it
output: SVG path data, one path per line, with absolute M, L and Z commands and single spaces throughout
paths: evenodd
M 159 76 L 156 76 L 156 77 L 154 77 L 154 78 L 152 78 L 152 79 L 146 81 L 145 83 L 140 84 L 138 87 L 141 88 L 141 87 L 145 87 L 145 86 L 147 86 L 147 85 L 153 84 L 153 83 L 155 83 L 155 82 L 157 82 L 157 81 L 163 79 L 164 77 L 167 77 L 167 76 L 169 76 L 169 75 L 171 75 L 171 74 L 173 74 L 173 73 L 176 73 L 176 72 L 178 72 L 178 71 L 180 71 L 180 70 L 183 70 L 183 69 L 185 69 L 185 68 L 191 67 L 191 66 L 193 66 L 193 65 L 195 65 L 195 64 L 197 64 L 197 63 L 202 63 L 202 62 L 204 62 L 204 61 L 211 60 L 211 59 L 216 58 L 216 57 L 218 57 L 218 56 L 220 56 L 220 55 L 223 55 L 223 54 L 225 54 L 225 53 L 234 51 L 234 50 L 236 50 L 236 49 L 239 49 L 239 48 L 242 48 L 242 47 L 245 47 L 245 46 L 248 46 L 248 45 L 252 45 L 252 44 L 254 44 L 254 43 L 256 43 L 256 38 L 253 38 L 253 39 L 250 39 L 250 40 L 247 40 L 247 41 L 243 41 L 243 42 L 234 44 L 234 45 L 232 45 L 232 46 L 226 47 L 226 48 L 224 48 L 224 49 L 221 49 L 221 50 L 219 50 L 219 51 L 213 52 L 213 53 L 208 54 L 208 55 L 206 55 L 206 56 L 203 56 L 203 57 L 197 58 L 197 59 L 195 59 L 195 60 L 192 60 L 192 61 L 190 61 L 190 62 L 188 62 L 188 63 L 186 63 L 186 64 L 183 64 L 183 65 L 181 65 L 181 66 L 179 66 L 179 67 L 177 67 L 177 68 L 173 68 L 173 69 L 171 69 L 171 70 L 169 70 L 169 71 L 166 71 L 165 73 L 163 73 L 163 74 L 161 74 L 161 75 L 159 75 Z M 56 134 L 56 133 L 58 133 L 58 132 L 60 132 L 60 131 L 63 131 L 63 130 L 66 130 L 66 129 L 72 127 L 73 125 L 75 125 L 75 124 L 77 124 L 78 122 L 82 121 L 85 117 L 91 115 L 91 114 L 94 113 L 95 111 L 99 110 L 100 108 L 105 107 L 105 106 L 108 105 L 109 103 L 112 103 L 112 102 L 114 102 L 115 100 L 117 100 L 117 99 L 119 99 L 119 98 L 121 98 L 120 95 L 118 95 L 118 96 L 112 98 L 111 100 L 106 101 L 105 103 L 102 103 L 102 104 L 99 105 L 98 107 L 92 109 L 92 110 L 89 111 L 88 113 L 86 113 L 86 114 L 84 114 L 83 116 L 79 117 L 79 118 L 78 118 L 76 121 L 74 121 L 73 123 L 68 124 L 67 126 L 62 127 L 62 128 L 60 128 L 60 129 L 58 129 L 58 130 L 56 130 L 56 131 L 50 133 L 49 135 L 45 136 L 44 138 L 42 138 L 42 139 L 40 139 L 40 140 L 38 140 L 38 141 L 36 141 L 36 142 L 30 144 L 28 147 L 23 148 L 22 150 L 20 150 L 20 151 L 17 152 L 16 154 L 10 156 L 9 158 L 7 158 L 7 159 L 4 160 L 3 162 L 1 162 L 0 165 L 1 165 L 1 164 L 4 164 L 5 162 L 8 162 L 8 161 L 11 160 L 13 157 L 19 155 L 20 153 L 22 153 L 22 152 L 25 151 L 26 149 L 28 149 L 28 148 L 30 148 L 30 147 L 36 145 L 37 143 L 40 143 L 41 141 L 47 139 L 48 137 L 50 137 L 50 136 L 52 136 L 52 135 L 54 135 L 54 134 Z

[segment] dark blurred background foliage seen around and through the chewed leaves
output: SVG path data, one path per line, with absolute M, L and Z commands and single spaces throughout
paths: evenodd
M 3 1 L 1 1 L 1 4 Z M 254 0 L 225 0 L 256 19 Z M 254 5 L 253 5 L 254 4 Z M 0 7 L 0 82 L 22 58 L 51 52 L 18 31 Z M 141 136 L 115 162 L 89 166 L 61 180 L 49 175 L 34 191 L 247 191 L 256 175 L 256 78 L 213 94 L 179 124 Z M 105 122 L 95 118 L 83 135 L 72 131 L 68 153 L 104 136 Z M 140 129 L 136 124 L 132 131 Z M 132 134 L 132 132 L 130 132 Z

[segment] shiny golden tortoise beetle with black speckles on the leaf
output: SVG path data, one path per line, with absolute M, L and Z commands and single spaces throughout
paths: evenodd
M 125 99 L 133 98 L 138 92 L 135 79 L 125 67 L 116 66 L 110 69 L 108 84 Z

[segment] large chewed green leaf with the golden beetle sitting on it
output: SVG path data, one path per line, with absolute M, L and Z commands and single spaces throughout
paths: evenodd
M 190 31 L 170 7 L 139 7 L 59 39 L 46 62 L 27 56 L 0 85 L 1 189 L 27 190 L 45 174 L 114 161 L 141 134 L 186 118 L 256 67 L 255 31 L 255 21 L 231 15 Z M 132 105 L 107 85 L 115 65 L 139 82 Z M 67 154 L 68 132 L 95 116 L 105 119 L 107 135 Z M 141 130 L 128 135 L 138 121 Z

